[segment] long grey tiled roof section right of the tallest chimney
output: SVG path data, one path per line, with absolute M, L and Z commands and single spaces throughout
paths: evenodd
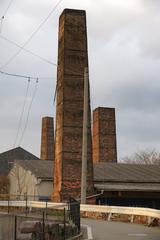
M 160 183 L 160 165 L 97 163 L 94 181 Z

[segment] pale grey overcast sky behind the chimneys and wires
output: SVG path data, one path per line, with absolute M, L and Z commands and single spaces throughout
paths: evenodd
M 10 0 L 0 0 L 0 17 Z M 57 0 L 13 0 L 1 24 L 1 34 L 23 45 Z M 63 0 L 26 49 L 57 62 L 58 18 L 64 8 L 87 12 L 92 109 L 115 107 L 118 158 L 137 150 L 160 147 L 160 1 L 159 0 Z M 1 36 L 2 36 L 1 35 Z M 0 66 L 19 50 L 0 38 Z M 53 97 L 56 67 L 21 51 L 1 68 L 39 79 L 28 125 L 20 143 L 39 156 L 42 116 L 55 115 Z M 35 87 L 28 90 L 22 135 Z M 0 152 L 14 146 L 27 79 L 0 74 Z

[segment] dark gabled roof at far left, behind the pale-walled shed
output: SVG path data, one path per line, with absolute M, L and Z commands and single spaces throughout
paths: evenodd
M 16 159 L 21 159 L 24 161 L 26 159 L 38 160 L 39 158 L 21 147 L 0 153 L 0 175 L 7 175 L 12 163 Z

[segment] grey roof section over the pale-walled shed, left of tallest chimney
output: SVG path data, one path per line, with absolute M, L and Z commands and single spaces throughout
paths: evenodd
M 53 161 L 47 161 L 47 160 L 21 161 L 21 160 L 17 160 L 16 163 L 18 163 L 24 169 L 32 172 L 32 174 L 34 174 L 37 178 L 53 179 Z

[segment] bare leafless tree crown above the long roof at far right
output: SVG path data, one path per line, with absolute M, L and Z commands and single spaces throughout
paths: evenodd
M 155 149 L 141 150 L 122 159 L 125 163 L 160 165 L 160 153 Z

